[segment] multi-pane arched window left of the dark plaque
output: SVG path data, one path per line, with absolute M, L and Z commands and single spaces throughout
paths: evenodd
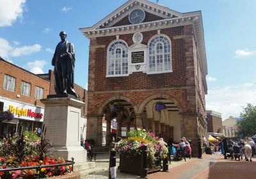
M 128 74 L 128 47 L 125 42 L 116 41 L 108 47 L 107 76 Z

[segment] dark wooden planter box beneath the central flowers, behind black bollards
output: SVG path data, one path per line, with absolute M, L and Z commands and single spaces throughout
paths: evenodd
M 120 172 L 140 175 L 141 169 L 142 169 L 141 158 L 142 158 L 141 156 L 132 157 L 131 155 L 120 155 L 120 163 L 118 167 L 120 169 Z M 161 170 L 161 160 L 157 160 L 154 166 L 150 164 L 149 160 L 147 163 L 148 163 L 148 173 L 153 173 Z

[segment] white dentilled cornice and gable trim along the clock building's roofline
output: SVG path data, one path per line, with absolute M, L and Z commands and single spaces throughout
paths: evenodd
M 152 22 L 141 22 L 140 24 L 128 24 L 125 26 L 113 27 L 116 22 L 129 15 L 129 13 L 135 8 L 141 8 L 145 10 L 145 12 L 163 17 L 163 19 L 155 20 Z M 202 14 L 200 11 L 180 13 L 147 0 L 129 0 L 115 11 L 110 13 L 108 16 L 106 16 L 104 19 L 97 22 L 94 26 L 83 27 L 79 29 L 86 37 L 93 38 L 99 36 L 113 36 L 127 33 L 151 31 L 155 29 L 185 26 L 189 24 L 193 25 L 198 57 L 202 65 L 202 72 L 204 75 L 207 75 L 208 72 L 204 42 L 204 27 L 202 22 Z

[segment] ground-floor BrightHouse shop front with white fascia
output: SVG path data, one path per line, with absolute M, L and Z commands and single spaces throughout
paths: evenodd
M 11 121 L 0 122 L 1 139 L 17 132 L 19 124 L 24 130 L 36 131 L 38 134 L 41 133 L 44 108 L 3 97 L 0 97 L 0 104 L 0 111 L 9 110 L 14 116 Z

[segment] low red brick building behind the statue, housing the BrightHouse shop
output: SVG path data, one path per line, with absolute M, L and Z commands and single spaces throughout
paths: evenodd
M 0 57 L 0 111 L 11 110 L 15 118 L 0 123 L 0 137 L 16 132 L 20 123 L 25 130 L 40 128 L 44 121 L 44 104 L 40 99 L 56 94 L 54 73 L 33 74 L 19 66 L 9 63 Z M 86 89 L 74 84 L 74 89 L 81 101 L 86 102 Z M 81 107 L 81 137 L 85 138 L 87 105 Z M 22 114 L 24 112 L 24 114 Z M 20 114 L 19 114 L 20 113 Z M 31 113 L 42 114 L 40 118 Z

